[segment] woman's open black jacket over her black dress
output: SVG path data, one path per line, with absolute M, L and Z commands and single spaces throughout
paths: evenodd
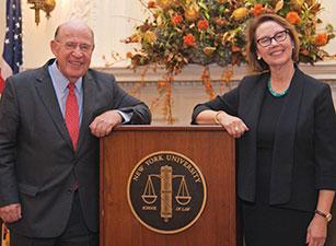
M 237 140 L 237 195 L 255 201 L 257 125 L 269 73 L 246 77 L 223 96 L 197 105 L 240 117 L 248 131 Z M 331 89 L 298 68 L 276 126 L 269 204 L 314 211 L 318 189 L 336 189 L 336 117 Z

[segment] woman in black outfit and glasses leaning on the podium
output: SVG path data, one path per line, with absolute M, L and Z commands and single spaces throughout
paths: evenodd
M 278 15 L 251 20 L 246 54 L 258 73 L 197 105 L 193 122 L 236 139 L 246 246 L 322 246 L 336 189 L 331 89 L 296 66 L 298 34 Z

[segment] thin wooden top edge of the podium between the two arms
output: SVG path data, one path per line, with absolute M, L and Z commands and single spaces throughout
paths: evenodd
M 225 131 L 216 125 L 189 125 L 189 126 L 152 126 L 152 125 L 124 125 L 113 131 Z

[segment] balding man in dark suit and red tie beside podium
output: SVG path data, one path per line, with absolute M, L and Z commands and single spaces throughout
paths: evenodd
M 5 82 L 0 216 L 11 246 L 97 246 L 100 138 L 151 114 L 113 75 L 89 69 L 94 34 L 84 23 L 61 24 L 50 48 L 56 59 Z

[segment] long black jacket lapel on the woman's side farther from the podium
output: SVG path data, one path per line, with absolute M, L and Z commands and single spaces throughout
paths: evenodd
M 270 204 L 285 203 L 290 199 L 297 122 L 304 85 L 302 79 L 302 72 L 297 69 L 277 124 L 271 163 Z

